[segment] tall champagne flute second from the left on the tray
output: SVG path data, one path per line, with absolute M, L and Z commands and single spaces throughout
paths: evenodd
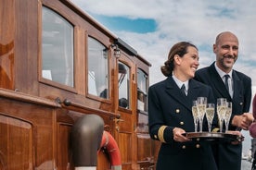
M 205 115 L 206 103 L 207 103 L 207 98 L 206 97 L 198 97 L 197 98 L 199 128 L 200 128 L 199 132 L 202 132 L 203 117 Z

